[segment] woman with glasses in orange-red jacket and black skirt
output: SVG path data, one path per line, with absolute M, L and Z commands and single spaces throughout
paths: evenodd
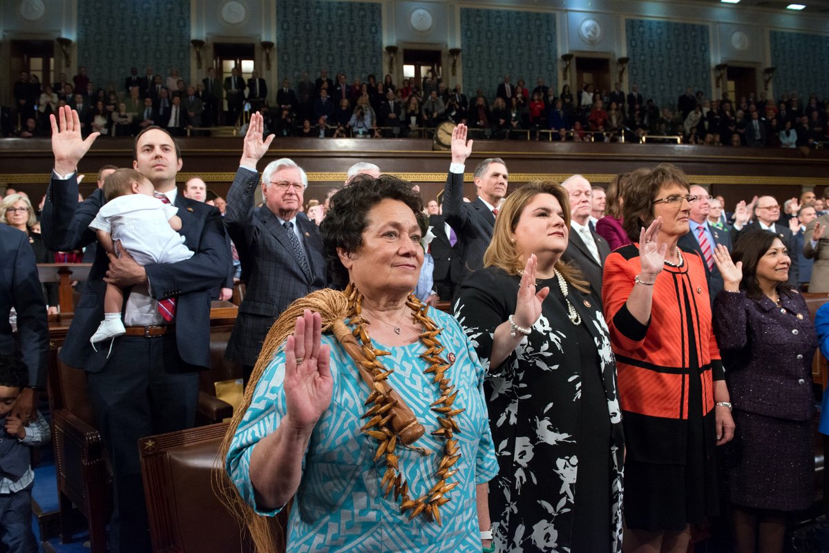
M 676 166 L 633 171 L 622 208 L 633 243 L 604 265 L 628 446 L 626 553 L 687 551 L 691 524 L 718 509 L 715 445 L 734 435 L 705 260 L 677 246 L 696 201 L 689 190 Z

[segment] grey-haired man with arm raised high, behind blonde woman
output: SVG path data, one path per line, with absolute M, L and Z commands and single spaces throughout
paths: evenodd
M 471 140 L 467 143 L 467 130 L 461 123 L 452 132 L 452 164 L 444 186 L 444 218 L 461 244 L 461 281 L 483 267 L 483 252 L 492 241 L 497 207 L 507 195 L 509 179 L 507 166 L 500 157 L 485 159 L 475 168 L 478 198 L 469 203 L 463 201 L 463 171 L 473 145 Z

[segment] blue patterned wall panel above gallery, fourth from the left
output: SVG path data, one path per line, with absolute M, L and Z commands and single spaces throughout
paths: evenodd
M 628 19 L 628 79 L 645 99 L 676 110 L 686 87 L 711 89 L 711 55 L 707 25 Z

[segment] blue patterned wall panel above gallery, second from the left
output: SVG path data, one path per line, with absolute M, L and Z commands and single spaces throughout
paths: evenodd
M 322 68 L 335 82 L 340 72 L 349 84 L 370 74 L 382 82 L 381 4 L 279 0 L 276 9 L 279 82 L 287 77 L 295 87 L 303 71 L 313 81 Z

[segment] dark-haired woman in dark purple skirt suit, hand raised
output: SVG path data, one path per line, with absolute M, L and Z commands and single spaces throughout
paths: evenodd
M 783 551 L 789 512 L 812 504 L 812 356 L 806 301 L 787 284 L 792 264 L 773 233 L 740 238 L 732 262 L 717 246 L 725 281 L 714 331 L 737 430 L 725 448 L 734 551 Z

